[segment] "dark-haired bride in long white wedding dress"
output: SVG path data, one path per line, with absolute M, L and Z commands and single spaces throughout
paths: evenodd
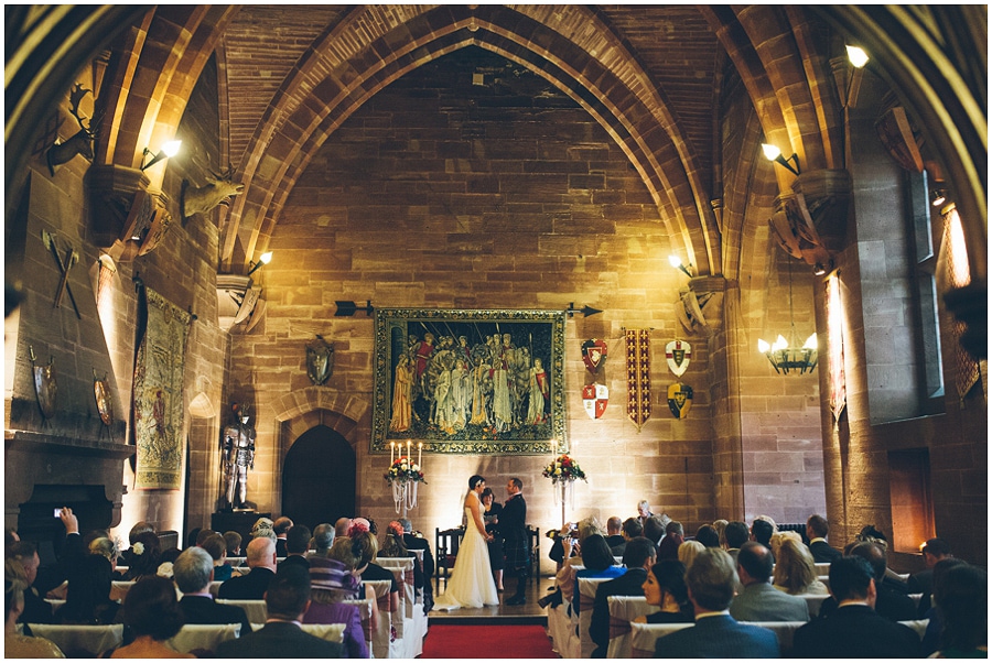
M 498 606 L 496 583 L 489 566 L 489 550 L 486 542 L 486 525 L 482 519 L 482 501 L 479 496 L 486 488 L 486 480 L 478 475 L 468 479 L 468 494 L 465 496 L 465 535 L 459 546 L 454 570 L 448 580 L 443 596 L 434 601 L 434 610 L 455 610 L 457 608 L 482 608 Z

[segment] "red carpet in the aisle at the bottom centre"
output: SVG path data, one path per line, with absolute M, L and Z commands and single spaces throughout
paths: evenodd
M 540 626 L 431 624 L 421 659 L 557 659 Z

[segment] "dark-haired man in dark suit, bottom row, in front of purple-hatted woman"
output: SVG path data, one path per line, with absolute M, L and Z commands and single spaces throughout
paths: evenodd
M 257 541 L 257 540 L 256 540 Z M 254 543 L 254 541 L 252 541 Z M 276 554 L 276 542 L 272 554 Z M 249 544 L 250 547 L 250 544 Z M 281 568 L 266 591 L 266 626 L 217 646 L 218 659 L 339 659 L 344 648 L 300 628 L 310 609 L 310 573 L 301 566 Z

